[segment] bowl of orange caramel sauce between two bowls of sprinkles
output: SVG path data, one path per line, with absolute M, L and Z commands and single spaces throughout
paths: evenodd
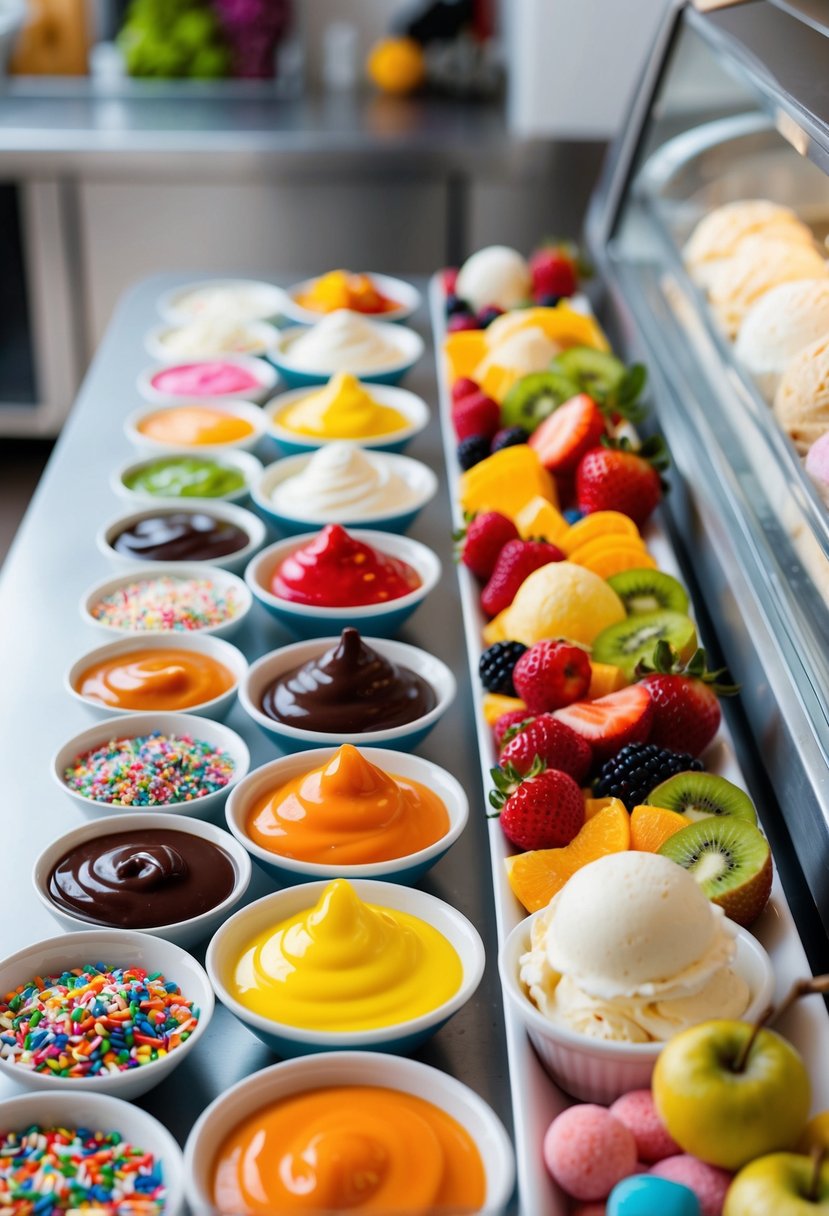
M 81 654 L 63 686 L 95 717 L 160 710 L 220 720 L 247 670 L 242 652 L 219 637 L 130 636 Z

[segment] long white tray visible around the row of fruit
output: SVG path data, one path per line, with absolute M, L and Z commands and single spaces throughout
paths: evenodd
M 440 276 L 435 275 L 429 286 L 429 308 L 435 339 L 435 358 L 438 360 L 438 388 L 440 426 L 446 457 L 446 474 L 452 502 L 452 525 L 461 527 L 462 512 L 458 505 L 459 467 L 456 460 L 456 438 L 451 421 L 451 395 L 442 358 L 442 339 L 445 337 L 444 289 Z M 678 565 L 669 537 L 659 520 L 652 518 L 645 540 L 660 569 L 679 576 Z M 478 675 L 478 659 L 481 653 L 481 630 L 486 618 L 480 609 L 480 589 L 470 572 L 458 563 L 458 582 L 461 589 L 461 612 L 467 643 L 467 658 L 473 687 L 475 709 L 475 728 L 480 754 L 484 789 L 492 782 L 490 769 L 497 762 L 492 743 L 492 732 L 484 720 L 481 685 Z M 705 753 L 705 766 L 738 786 L 745 788 L 734 745 L 727 725 L 720 730 L 715 742 Z M 762 820 L 762 804 L 757 807 Z M 473 807 L 474 814 L 474 807 Z M 486 814 L 486 806 L 479 809 Z M 489 822 L 490 860 L 492 866 L 492 885 L 495 891 L 495 911 L 498 930 L 498 945 L 511 930 L 526 916 L 524 908 L 513 895 L 504 858 L 512 852 L 497 820 Z M 777 975 L 777 997 L 783 997 L 795 979 L 810 974 L 808 962 L 800 941 L 789 905 L 777 873 L 772 899 L 752 930 L 769 952 Z M 507 1054 L 509 1063 L 509 1085 L 512 1091 L 513 1124 L 515 1133 L 515 1155 L 518 1164 L 519 1211 L 521 1216 L 566 1216 L 568 1200 L 554 1184 L 545 1169 L 541 1143 L 551 1121 L 570 1104 L 570 1099 L 549 1079 L 535 1054 L 524 1029 L 517 1021 L 508 1006 L 504 1007 L 507 1032 Z M 800 1001 L 784 1019 L 777 1024 L 780 1030 L 803 1054 L 810 1065 L 813 1088 L 813 1110 L 829 1107 L 829 1015 L 819 997 Z

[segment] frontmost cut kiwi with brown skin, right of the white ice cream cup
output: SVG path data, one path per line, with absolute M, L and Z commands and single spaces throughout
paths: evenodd
M 738 924 L 751 924 L 766 907 L 772 855 L 754 823 L 733 816 L 700 820 L 669 837 L 659 852 L 687 869 Z

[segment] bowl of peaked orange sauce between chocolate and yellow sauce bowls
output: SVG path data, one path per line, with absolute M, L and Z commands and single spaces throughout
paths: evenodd
M 416 883 L 466 827 L 451 773 L 385 748 L 318 748 L 249 773 L 225 806 L 227 827 L 282 885 L 309 879 Z

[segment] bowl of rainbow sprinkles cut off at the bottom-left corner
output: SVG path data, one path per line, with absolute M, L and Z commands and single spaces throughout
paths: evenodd
M 140 1107 L 53 1090 L 0 1102 L 0 1211 L 179 1216 L 182 1204 L 181 1149 Z

